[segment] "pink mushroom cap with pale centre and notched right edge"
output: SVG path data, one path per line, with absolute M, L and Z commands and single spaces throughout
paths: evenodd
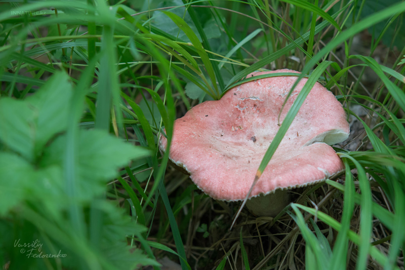
M 281 69 L 248 77 L 276 72 L 298 73 Z M 279 129 L 278 114 L 296 80 L 297 76 L 276 76 L 251 81 L 230 89 L 220 100 L 194 106 L 175 121 L 170 159 L 212 198 L 244 200 Z M 302 79 L 294 89 L 280 123 L 306 81 Z M 250 197 L 320 182 L 343 170 L 342 161 L 329 145 L 346 140 L 348 135 L 342 104 L 316 83 Z M 165 151 L 166 146 L 167 139 L 160 136 L 160 150 Z

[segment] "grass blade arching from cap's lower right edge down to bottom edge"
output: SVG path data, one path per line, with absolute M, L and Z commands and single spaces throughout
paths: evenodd
M 372 197 L 369 179 L 367 179 L 366 172 L 363 167 L 351 156 L 341 153 L 340 155 L 354 163 L 358 173 L 358 181 L 361 190 L 361 212 L 360 212 L 360 244 L 357 257 L 356 269 L 366 269 L 367 256 L 370 250 L 370 238 L 372 232 Z

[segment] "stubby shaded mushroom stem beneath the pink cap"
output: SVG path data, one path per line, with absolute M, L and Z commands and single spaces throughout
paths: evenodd
M 246 202 L 246 207 L 256 216 L 275 217 L 290 203 L 288 189 L 277 189 L 274 193 L 259 195 Z

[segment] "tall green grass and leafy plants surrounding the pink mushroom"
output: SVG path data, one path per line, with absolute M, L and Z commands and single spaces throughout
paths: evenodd
M 0 7 L 3 268 L 403 269 L 403 1 Z M 170 145 L 190 107 L 278 68 L 308 81 L 257 179 L 316 81 L 347 111 L 346 170 L 229 231 L 240 204 L 198 191 L 157 136 Z

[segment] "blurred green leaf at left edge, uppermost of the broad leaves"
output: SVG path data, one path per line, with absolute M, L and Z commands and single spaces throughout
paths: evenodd
M 33 161 L 45 144 L 66 129 L 68 100 L 72 90 L 64 72 L 53 75 L 24 101 L 0 100 L 0 140 L 10 149 Z

